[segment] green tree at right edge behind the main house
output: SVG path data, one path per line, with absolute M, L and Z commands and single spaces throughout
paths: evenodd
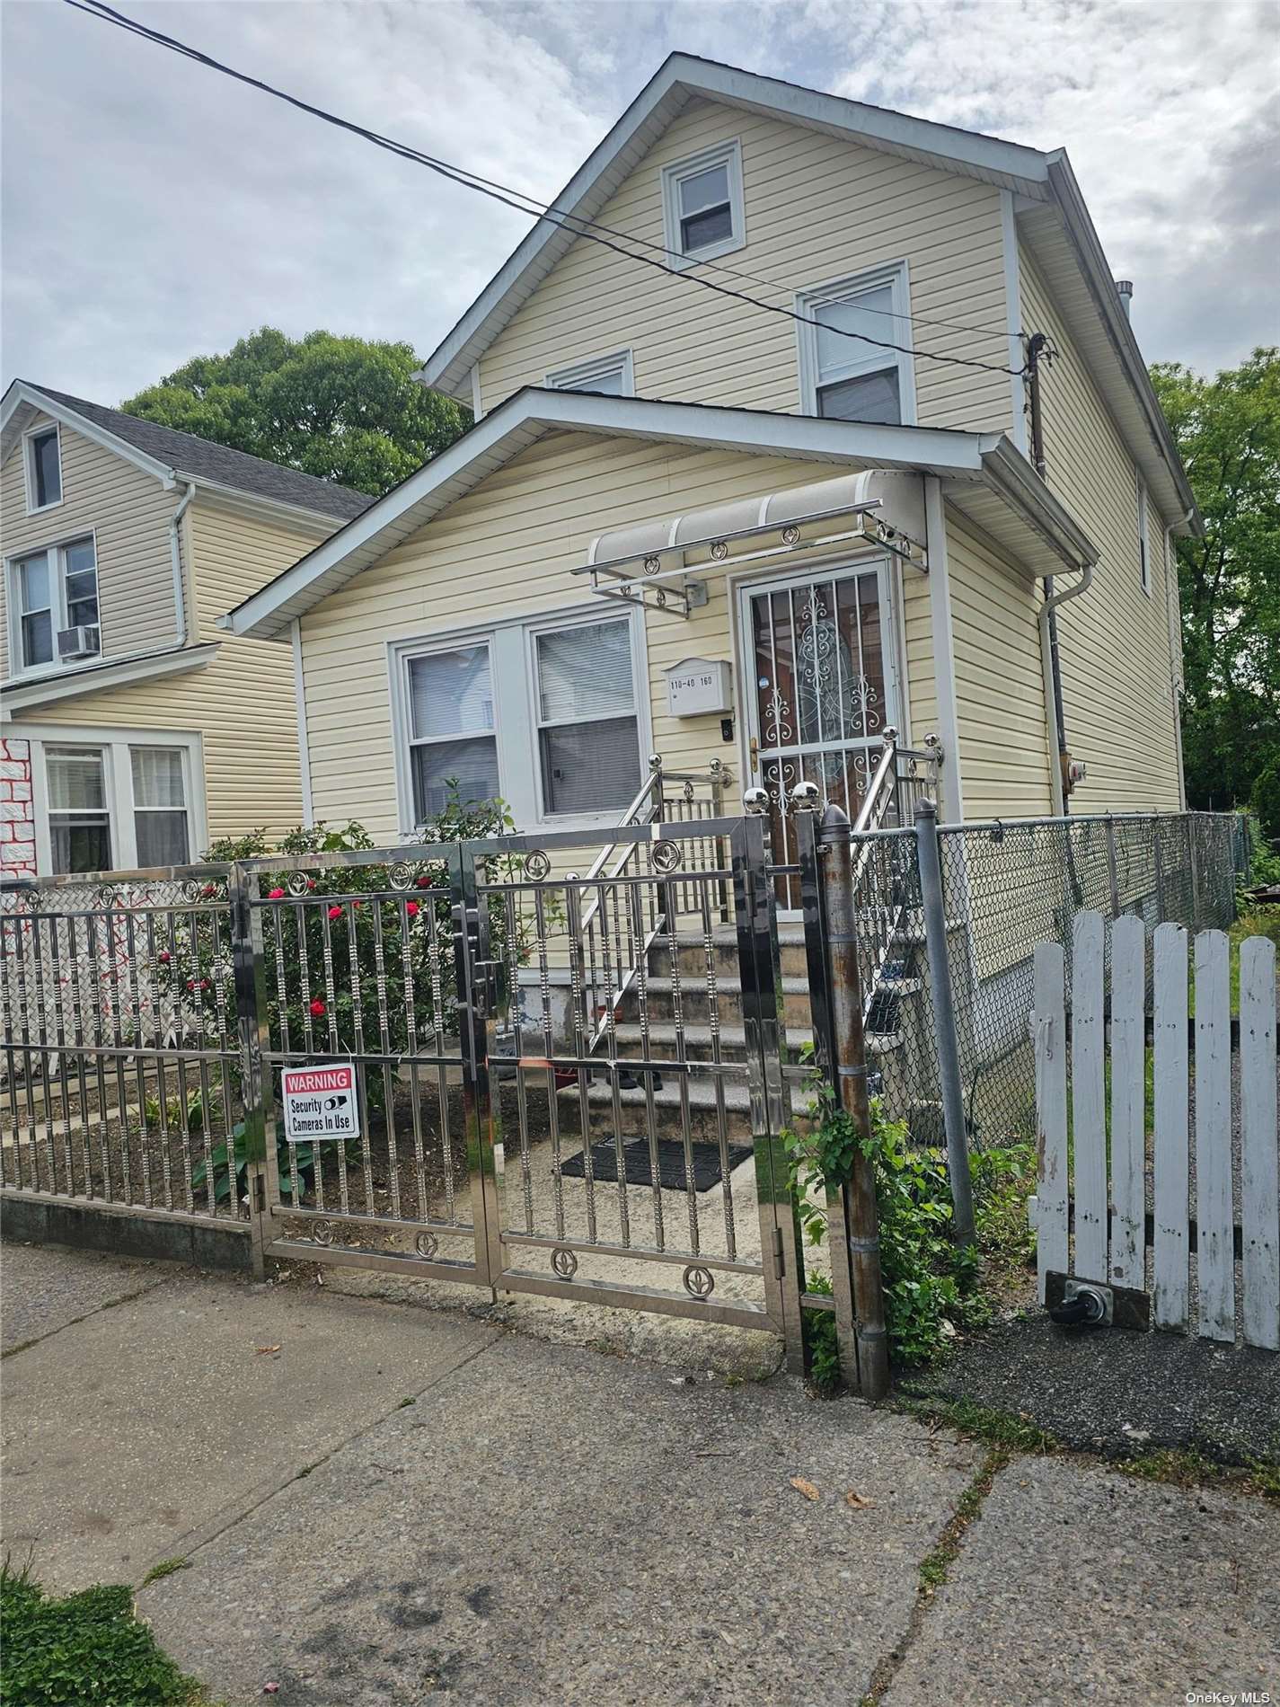
M 1280 765 L 1280 352 L 1215 379 L 1150 372 L 1205 519 L 1203 539 L 1178 539 L 1188 802 L 1244 806 Z

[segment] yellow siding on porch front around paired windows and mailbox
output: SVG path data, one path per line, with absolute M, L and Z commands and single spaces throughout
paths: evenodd
M 398 831 L 389 642 L 561 609 L 606 616 L 623 606 L 594 599 L 570 574 L 592 534 L 821 475 L 821 464 L 783 457 L 589 434 L 543 439 L 302 618 L 316 816 L 358 818 L 377 836 Z M 739 744 L 722 741 L 719 717 L 671 719 L 664 678 L 688 655 L 734 655 L 724 579 L 688 621 L 650 611 L 647 650 L 654 751 L 672 770 L 724 760 L 736 799 Z

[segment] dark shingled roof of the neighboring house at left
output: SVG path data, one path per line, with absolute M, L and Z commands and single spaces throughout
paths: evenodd
M 108 446 L 109 449 L 128 447 L 138 452 L 130 461 L 140 463 L 160 480 L 195 480 L 196 485 L 239 492 L 270 504 L 287 504 L 336 521 L 350 521 L 374 502 L 367 492 L 352 492 L 331 480 L 316 480 L 314 475 L 300 475 L 261 456 L 232 451 L 195 434 L 160 427 L 157 422 L 109 410 L 87 398 L 68 396 L 65 391 L 49 391 L 26 379 L 15 379 L 5 393 L 5 423 L 20 403 L 44 410 L 70 427 L 75 427 L 79 418 L 96 428 L 94 437 L 99 442 L 114 439 L 116 446 Z M 5 444 L 5 454 L 9 449 Z

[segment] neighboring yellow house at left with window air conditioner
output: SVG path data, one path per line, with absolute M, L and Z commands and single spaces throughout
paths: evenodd
M 294 662 L 215 618 L 369 497 L 26 381 L 0 423 L 3 874 L 300 823 Z

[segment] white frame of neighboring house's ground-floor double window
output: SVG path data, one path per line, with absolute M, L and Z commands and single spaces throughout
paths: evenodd
M 191 864 L 208 847 L 205 809 L 203 743 L 198 734 L 169 729 L 92 729 L 75 724 L 15 724 L 22 739 L 31 741 L 31 780 L 36 814 L 36 871 L 53 871 L 49 835 L 48 748 L 97 748 L 102 753 L 106 811 L 111 831 L 109 871 L 138 869 L 138 833 L 133 804 L 133 748 L 177 748 L 183 754 L 183 794 L 186 797 L 186 835 Z

